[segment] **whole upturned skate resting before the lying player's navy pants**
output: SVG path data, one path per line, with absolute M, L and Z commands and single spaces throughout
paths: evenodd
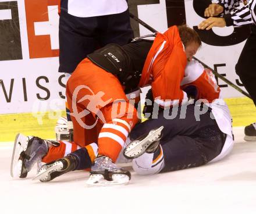
M 123 150 L 123 155 L 127 159 L 138 158 L 145 152 L 151 153 L 159 145 L 159 140 L 161 139 L 161 131 L 163 126 L 158 129 L 151 130 L 147 135 L 143 135 L 138 139 L 130 142 L 127 147 Z

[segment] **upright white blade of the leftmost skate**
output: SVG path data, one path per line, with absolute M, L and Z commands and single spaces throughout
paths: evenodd
M 23 134 L 17 134 L 13 146 L 12 163 L 10 164 L 10 176 L 17 178 L 22 173 L 22 161 L 19 160 L 20 154 L 26 151 L 29 138 Z

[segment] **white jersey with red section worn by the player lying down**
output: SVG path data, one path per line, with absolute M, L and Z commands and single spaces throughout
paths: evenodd
M 186 66 L 184 78 L 181 87 L 186 85 L 195 85 L 199 91 L 199 98 L 206 99 L 208 106 L 212 109 L 211 113 L 214 116 L 219 129 L 227 134 L 225 144 L 221 154 L 216 156 L 211 162 L 218 161 L 229 154 L 233 148 L 234 140 L 232 133 L 232 117 L 226 102 L 221 98 L 221 90 L 216 83 L 214 74 L 197 61 L 191 60 Z

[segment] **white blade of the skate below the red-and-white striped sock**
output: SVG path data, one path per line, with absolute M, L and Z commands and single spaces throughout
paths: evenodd
M 86 182 L 87 187 L 107 187 L 107 186 L 119 186 L 126 185 L 130 181 L 129 176 L 126 174 L 113 174 L 112 181 L 104 179 L 102 174 L 91 174 L 90 178 Z

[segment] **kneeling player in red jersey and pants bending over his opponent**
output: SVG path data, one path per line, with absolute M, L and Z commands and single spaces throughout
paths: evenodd
M 187 102 L 180 83 L 187 61 L 201 45 L 197 33 L 186 26 L 170 27 L 152 38 L 154 42 L 139 39 L 122 47 L 107 45 L 77 66 L 67 82 L 66 97 L 71 107 L 74 142 L 82 147 L 83 161 L 77 158 L 77 150 L 50 162 L 40 169 L 41 181 L 88 167 L 92 169 L 91 177 L 101 175 L 112 180 L 111 175 L 117 174 L 130 179 L 129 172 L 115 165 L 127 136 L 138 122 L 134 102 L 126 94 L 151 84 L 155 102 L 163 108 Z M 98 145 L 98 158 L 97 154 L 89 155 L 86 147 L 91 144 Z M 58 148 L 49 148 L 43 161 L 55 159 Z

